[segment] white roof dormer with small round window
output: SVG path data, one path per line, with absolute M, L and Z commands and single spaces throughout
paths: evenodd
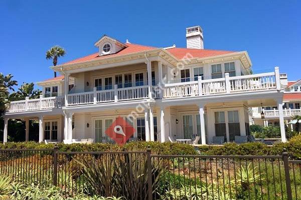
M 99 48 L 99 55 L 113 54 L 127 47 L 126 44 L 107 35 L 103 35 L 94 45 Z

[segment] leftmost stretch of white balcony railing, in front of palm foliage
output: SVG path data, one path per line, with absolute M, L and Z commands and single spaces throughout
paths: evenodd
M 47 97 L 44 98 L 40 95 L 40 98 L 12 101 L 7 108 L 7 112 L 21 112 L 31 110 L 41 110 L 55 107 L 62 107 L 65 105 L 64 96 Z

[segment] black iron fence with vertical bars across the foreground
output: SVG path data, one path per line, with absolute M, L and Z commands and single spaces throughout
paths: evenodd
M 0 173 L 64 194 L 126 199 L 301 199 L 301 160 L 274 156 L 157 155 L 146 151 L 1 149 Z

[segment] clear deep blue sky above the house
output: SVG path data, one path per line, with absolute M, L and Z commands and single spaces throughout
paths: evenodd
M 67 51 L 59 63 L 96 52 L 103 34 L 185 47 L 185 28 L 201 25 L 205 48 L 247 50 L 254 72 L 278 65 L 290 80 L 300 79 L 300 8 L 298 0 L 2 0 L 0 72 L 36 82 L 53 76 L 45 59 L 53 45 Z

